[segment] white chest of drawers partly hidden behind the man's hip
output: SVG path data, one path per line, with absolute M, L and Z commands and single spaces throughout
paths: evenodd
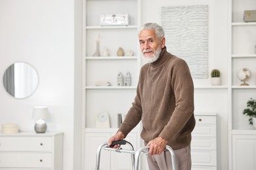
M 192 169 L 217 169 L 216 114 L 197 114 L 192 131 Z

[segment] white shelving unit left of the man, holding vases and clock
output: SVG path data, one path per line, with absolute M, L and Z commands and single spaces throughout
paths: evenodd
M 129 14 L 131 24 L 101 26 L 101 14 Z M 126 114 L 134 101 L 141 67 L 137 36 L 140 16 L 140 0 L 83 0 L 83 160 L 91 158 L 93 160 L 90 161 L 96 161 L 93 148 L 116 133 L 117 114 Z M 93 56 L 96 41 L 99 42 L 100 56 Z M 123 48 L 124 56 L 117 55 L 119 47 Z M 109 56 L 102 56 L 104 48 L 108 48 Z M 133 56 L 128 55 L 129 51 L 134 53 Z M 117 86 L 117 75 L 121 73 L 124 79 L 127 72 L 131 75 L 131 86 Z M 98 81 L 110 82 L 111 86 L 95 86 Z M 101 111 L 108 112 L 110 128 L 95 127 L 96 116 Z M 139 128 L 136 127 L 129 135 L 137 147 L 140 145 Z M 114 161 L 116 157 L 108 159 Z M 88 165 L 90 161 L 85 161 L 83 169 L 95 168 Z M 105 169 L 119 168 L 111 162 L 103 164 Z

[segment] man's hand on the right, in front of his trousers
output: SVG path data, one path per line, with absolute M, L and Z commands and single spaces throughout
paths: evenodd
M 152 141 L 149 141 L 149 143 L 147 144 L 147 146 L 150 147 L 148 150 L 148 155 L 152 156 L 155 154 L 161 154 L 161 152 L 163 152 L 163 150 L 165 149 L 167 143 L 168 142 L 162 137 L 156 137 Z

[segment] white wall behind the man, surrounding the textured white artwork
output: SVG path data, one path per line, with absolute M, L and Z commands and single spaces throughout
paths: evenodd
M 209 6 L 209 72 L 221 70 L 222 84 L 227 85 L 227 0 L 142 0 L 142 23 L 161 24 L 161 7 L 179 5 Z M 168 50 L 168 49 L 167 49 Z M 210 78 L 194 79 L 195 87 L 209 86 Z M 228 169 L 227 88 L 195 90 L 195 112 L 217 112 L 218 169 Z

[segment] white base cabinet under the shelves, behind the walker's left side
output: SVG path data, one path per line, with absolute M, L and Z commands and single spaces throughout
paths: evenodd
M 96 152 L 98 146 L 100 144 L 108 141 L 114 133 L 116 133 L 117 129 L 108 129 L 105 132 L 102 132 L 100 128 L 98 129 L 90 129 L 87 128 L 85 131 L 85 148 L 84 148 L 84 168 L 86 170 L 94 170 L 96 166 Z M 126 141 L 129 141 L 133 144 L 135 150 L 139 148 L 140 139 L 137 138 L 137 131 L 133 130 L 129 135 L 125 138 Z M 127 145 L 122 145 L 123 149 L 130 149 Z M 101 170 L 131 170 L 131 154 L 110 152 L 106 150 L 101 151 L 100 155 L 100 169 Z

